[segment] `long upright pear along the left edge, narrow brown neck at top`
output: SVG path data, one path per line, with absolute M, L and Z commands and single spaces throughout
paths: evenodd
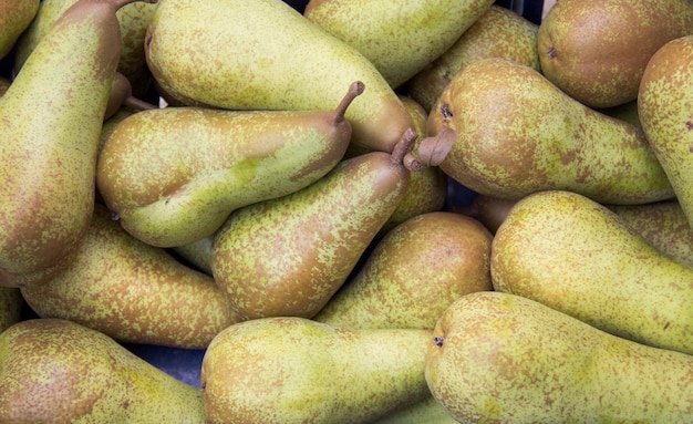
M 115 12 L 132 1 L 74 3 L 0 97 L 0 286 L 49 278 L 86 232 L 120 55 Z

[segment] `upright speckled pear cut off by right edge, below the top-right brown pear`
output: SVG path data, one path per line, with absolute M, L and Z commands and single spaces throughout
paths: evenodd
M 693 35 L 668 42 L 648 62 L 638 96 L 638 115 L 648 141 L 693 225 Z

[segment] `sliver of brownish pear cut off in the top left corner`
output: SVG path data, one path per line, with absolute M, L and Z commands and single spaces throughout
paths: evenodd
M 22 32 L 31 24 L 41 0 L 0 1 L 0 59 L 14 48 Z

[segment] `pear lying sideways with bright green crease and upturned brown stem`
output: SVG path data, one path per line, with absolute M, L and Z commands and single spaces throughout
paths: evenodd
M 333 112 L 142 111 L 103 146 L 99 192 L 123 227 L 149 245 L 209 237 L 232 210 L 293 193 L 332 169 L 351 139 L 344 112 L 363 89 L 352 83 Z

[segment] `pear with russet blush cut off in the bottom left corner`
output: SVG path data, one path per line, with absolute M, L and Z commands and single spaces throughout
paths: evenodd
M 0 333 L 0 387 L 6 423 L 205 421 L 198 389 L 68 320 L 24 320 Z

